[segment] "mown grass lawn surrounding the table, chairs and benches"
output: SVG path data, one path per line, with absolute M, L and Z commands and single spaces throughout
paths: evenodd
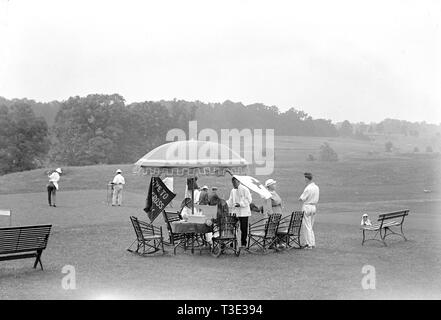
M 311 138 L 308 145 L 322 140 Z M 42 256 L 44 271 L 32 269 L 32 259 L 0 262 L 0 299 L 440 299 L 439 159 L 368 159 L 363 154 L 371 145 L 339 140 L 341 161 L 306 162 L 299 152 L 310 151 L 299 151 L 304 147 L 300 142 L 277 140 L 272 177 L 288 213 L 298 209 L 302 172 L 315 173 L 321 188 L 315 250 L 216 259 L 182 251 L 175 256 L 166 248 L 164 256 L 139 257 L 126 251 L 135 237 L 129 216 L 147 220 L 142 208 L 148 177 L 130 174 L 130 165 L 65 168 L 57 208 L 47 205 L 45 170 L 0 177 L 1 208 L 13 209 L 14 225 L 53 225 Z M 111 207 L 106 182 L 118 167 L 128 184 L 123 206 Z M 221 192 L 230 189 L 228 178 L 200 179 L 217 184 Z M 179 200 L 183 183 L 176 179 Z M 433 192 L 422 192 L 427 188 Z M 403 208 L 410 209 L 405 223 L 409 241 L 390 238 L 388 247 L 375 242 L 361 246 L 362 212 L 374 219 L 377 213 Z M 0 225 L 8 223 L 0 219 Z M 163 225 L 161 217 L 157 223 Z M 62 288 L 65 265 L 75 267 L 76 290 Z M 375 267 L 375 290 L 362 288 L 365 265 Z

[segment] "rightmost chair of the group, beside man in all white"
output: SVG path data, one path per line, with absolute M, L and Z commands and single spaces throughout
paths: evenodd
M 301 249 L 300 230 L 302 220 L 302 211 L 294 211 L 291 215 L 281 219 L 277 229 L 277 244 L 285 245 L 287 249 Z

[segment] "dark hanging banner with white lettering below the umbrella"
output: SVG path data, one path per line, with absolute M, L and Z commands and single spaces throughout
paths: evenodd
M 144 208 L 151 222 L 161 214 L 174 197 L 176 194 L 171 192 L 159 177 L 152 177 Z

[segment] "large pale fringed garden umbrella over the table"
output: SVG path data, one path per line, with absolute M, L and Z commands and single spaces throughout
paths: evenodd
M 139 159 L 134 172 L 144 175 L 196 177 L 246 174 L 248 162 L 229 147 L 211 141 L 184 140 L 163 144 Z M 194 211 L 192 189 L 192 211 Z

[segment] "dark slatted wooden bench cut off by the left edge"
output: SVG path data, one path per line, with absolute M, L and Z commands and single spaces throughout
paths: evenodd
M 34 269 L 46 249 L 52 225 L 0 228 L 0 261 L 35 258 Z

